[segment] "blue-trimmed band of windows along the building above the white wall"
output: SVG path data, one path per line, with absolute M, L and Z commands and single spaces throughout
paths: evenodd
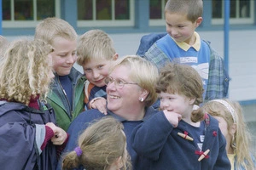
M 108 33 L 165 30 L 166 0 L 2 0 L 3 35 L 33 35 L 46 17 L 67 20 L 80 34 L 92 28 Z M 230 0 L 230 29 L 256 29 L 256 2 Z M 199 30 L 221 30 L 224 0 L 204 0 Z

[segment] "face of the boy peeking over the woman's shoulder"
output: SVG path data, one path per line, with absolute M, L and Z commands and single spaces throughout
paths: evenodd
M 113 60 L 108 59 L 90 59 L 83 65 L 84 74 L 90 83 L 97 87 L 105 86 L 105 77 L 108 77 L 109 66 Z

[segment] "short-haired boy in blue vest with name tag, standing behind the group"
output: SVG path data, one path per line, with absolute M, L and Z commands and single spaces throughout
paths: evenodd
M 143 37 L 138 52 L 159 69 L 166 61 L 192 65 L 201 76 L 205 89 L 203 99 L 207 101 L 226 97 L 230 78 L 224 60 L 195 32 L 201 25 L 202 11 L 202 0 L 168 0 L 165 8 L 167 34 Z M 148 43 L 153 43 L 149 49 Z M 144 48 L 145 54 L 141 52 Z

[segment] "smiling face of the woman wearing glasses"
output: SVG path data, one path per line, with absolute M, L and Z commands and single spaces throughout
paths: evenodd
M 113 79 L 113 82 L 109 82 L 107 86 L 108 110 L 113 111 L 113 113 L 117 115 L 132 113 L 136 111 L 139 105 L 142 105 L 139 101 L 142 88 L 137 84 L 125 84 L 123 88 L 119 88 L 115 85 L 116 80 L 132 83 L 133 81 L 131 81 L 130 74 L 130 68 L 125 65 L 120 65 L 109 75 L 109 77 Z

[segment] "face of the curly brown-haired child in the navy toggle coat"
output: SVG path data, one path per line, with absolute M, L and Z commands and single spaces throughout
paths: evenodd
M 183 117 L 189 117 L 193 108 L 193 103 L 187 97 L 179 94 L 169 94 L 161 92 L 160 109 L 176 112 Z M 194 101 L 193 101 L 194 102 Z

